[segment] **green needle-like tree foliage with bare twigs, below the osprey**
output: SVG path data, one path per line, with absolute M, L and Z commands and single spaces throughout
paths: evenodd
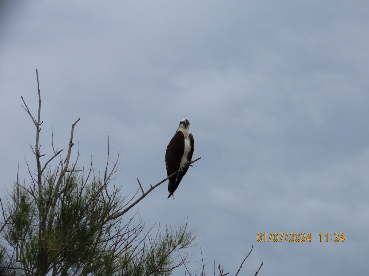
M 1 199 L 0 275 L 170 275 L 186 263 L 184 250 L 193 245 L 196 231 L 188 231 L 186 223 L 154 236 L 144 232 L 141 221 L 135 224 L 135 215 L 126 212 L 145 193 L 140 184 L 140 200 L 131 203 L 133 198 L 121 196 L 121 185 L 114 181 L 118 158 L 111 166 L 108 160 L 103 176 L 94 173 L 92 164 L 79 169 L 78 157 L 70 161 L 79 119 L 72 124 L 65 157 L 56 149 L 42 163 L 47 158 L 39 141 L 43 121 L 38 72 L 37 83 L 37 117 L 22 98 L 36 128 L 32 152 L 37 168 L 28 167 L 30 184 L 17 176 L 13 190 Z M 176 252 L 180 261 L 173 258 Z

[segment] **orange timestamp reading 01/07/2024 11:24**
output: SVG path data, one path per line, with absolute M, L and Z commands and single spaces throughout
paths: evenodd
M 339 234 L 339 233 L 319 233 L 319 241 L 320 242 L 328 242 L 333 241 L 335 243 L 337 242 L 344 242 L 345 241 L 345 233 Z M 264 242 L 300 242 L 304 243 L 308 241 L 309 243 L 311 240 L 311 233 L 258 233 L 256 234 L 256 240 L 258 242 L 264 241 Z

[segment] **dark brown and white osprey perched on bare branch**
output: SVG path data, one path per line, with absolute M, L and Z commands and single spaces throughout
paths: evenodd
M 190 122 L 184 119 L 179 122 L 179 127 L 176 134 L 170 140 L 165 152 L 165 166 L 168 176 L 175 171 L 177 174 L 169 178 L 168 192 L 170 196 L 174 198 L 174 191 L 178 188 L 182 177 L 187 173 L 188 167 L 186 164 L 191 161 L 193 149 L 195 147 L 193 142 L 193 136 L 188 132 Z

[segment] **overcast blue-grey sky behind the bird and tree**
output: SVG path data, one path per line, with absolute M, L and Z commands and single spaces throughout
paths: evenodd
M 0 6 L 0 193 L 35 169 L 36 68 L 41 143 L 133 195 L 166 177 L 165 150 L 187 118 L 193 159 L 132 210 L 197 228 L 208 275 L 365 275 L 369 271 L 368 1 L 7 1 Z M 76 155 L 77 143 L 73 148 Z M 48 157 L 49 156 L 49 157 Z M 311 242 L 258 242 L 258 233 Z M 345 241 L 320 242 L 319 233 Z M 201 263 L 193 263 L 192 271 Z M 173 275 L 184 275 L 178 268 Z

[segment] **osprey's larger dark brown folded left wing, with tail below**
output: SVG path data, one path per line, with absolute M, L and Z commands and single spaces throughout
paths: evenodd
M 172 140 L 170 140 L 168 146 L 166 147 L 165 166 L 167 176 L 170 176 L 172 173 L 174 173 L 179 169 L 183 152 L 184 152 L 184 135 L 182 131 L 177 131 L 176 134 L 173 136 Z M 178 185 L 176 185 L 177 175 L 169 178 L 168 183 L 168 192 L 170 192 L 169 197 L 178 187 Z

